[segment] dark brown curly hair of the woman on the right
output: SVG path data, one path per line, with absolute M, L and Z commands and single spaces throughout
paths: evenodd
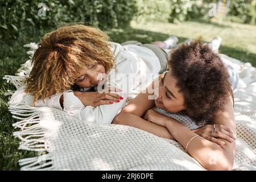
M 230 94 L 233 96 L 220 56 L 199 38 L 172 50 L 168 64 L 184 95 L 185 113 L 196 122 L 212 123 Z

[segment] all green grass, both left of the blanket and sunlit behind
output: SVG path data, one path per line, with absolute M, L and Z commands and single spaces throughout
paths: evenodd
M 24 63 L 28 56 L 23 45 L 29 42 L 38 42 L 46 31 L 34 31 L 24 34 L 18 40 L 7 40 L 0 43 L 0 77 L 14 75 L 19 65 Z M 126 40 L 138 40 L 150 43 L 155 40 L 164 40 L 170 34 L 176 35 L 180 42 L 185 39 L 196 39 L 203 36 L 209 42 L 214 36 L 221 36 L 221 53 L 236 59 L 250 62 L 256 66 L 256 26 L 236 23 L 204 23 L 184 22 L 171 23 L 131 23 L 126 30 L 113 29 L 107 31 L 113 42 L 122 43 Z M 18 150 L 19 139 L 13 137 L 15 129 L 12 124 L 16 119 L 11 117 L 7 107 L 10 96 L 4 96 L 6 90 L 14 90 L 14 86 L 0 79 L 0 170 L 18 170 L 18 160 L 37 155 L 36 152 Z

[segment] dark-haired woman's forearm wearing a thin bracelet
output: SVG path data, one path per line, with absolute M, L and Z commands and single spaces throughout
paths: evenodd
M 196 135 L 193 131 L 171 118 L 166 121 L 166 127 L 184 148 L 189 140 Z M 233 160 L 230 159 L 227 153 L 218 144 L 210 142 L 203 137 L 196 137 L 191 140 L 187 146 L 187 152 L 208 170 L 232 169 Z

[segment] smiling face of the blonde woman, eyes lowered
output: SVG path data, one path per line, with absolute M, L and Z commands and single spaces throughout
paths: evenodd
M 76 73 L 75 84 L 81 88 L 97 86 L 105 81 L 105 67 L 102 64 L 91 65 L 89 69 L 81 68 Z

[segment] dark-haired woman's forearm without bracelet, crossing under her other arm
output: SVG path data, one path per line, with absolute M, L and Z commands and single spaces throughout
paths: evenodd
M 147 131 L 148 133 L 152 133 L 158 137 L 175 139 L 172 137 L 170 131 L 168 131 L 166 127 L 148 122 L 135 114 L 121 112 L 117 115 L 117 117 L 114 118 L 112 123 L 137 127 L 138 129 Z

